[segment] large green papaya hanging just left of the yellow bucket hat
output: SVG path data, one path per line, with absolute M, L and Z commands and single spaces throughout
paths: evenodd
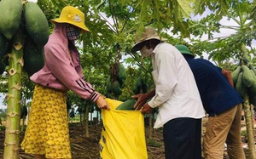
M 37 44 L 38 48 L 44 47 L 49 39 L 49 24 L 37 3 L 25 4 L 24 19 L 29 37 Z

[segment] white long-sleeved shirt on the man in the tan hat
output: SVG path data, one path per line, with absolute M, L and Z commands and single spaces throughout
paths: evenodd
M 177 48 L 169 43 L 160 43 L 151 57 L 155 95 L 148 105 L 159 107 L 154 128 L 178 117 L 205 116 L 194 75 Z

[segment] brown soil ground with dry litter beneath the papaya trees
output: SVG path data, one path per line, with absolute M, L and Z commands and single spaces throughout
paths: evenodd
M 203 130 L 204 131 L 204 130 Z M 99 140 L 101 137 L 102 126 L 90 125 L 90 137 L 85 137 L 84 128 L 80 123 L 70 124 L 70 141 L 73 159 L 99 159 Z M 148 159 L 165 159 L 164 144 L 162 139 L 162 130 L 154 129 L 152 138 L 148 139 L 148 128 L 146 128 L 146 141 Z M 0 131 L 0 159 L 3 158 L 4 150 L 4 131 Z M 20 141 L 23 139 L 24 133 L 20 133 Z M 245 141 L 243 141 L 245 142 Z M 243 145 L 246 143 L 243 143 Z M 246 151 L 246 149 L 245 149 Z M 32 155 L 25 154 L 23 150 L 19 152 L 20 159 L 32 159 Z M 224 152 L 224 159 L 228 159 Z

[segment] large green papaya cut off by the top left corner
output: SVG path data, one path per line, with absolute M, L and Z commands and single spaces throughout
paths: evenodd
M 10 40 L 20 27 L 22 3 L 20 0 L 1 0 L 0 10 L 0 32 Z

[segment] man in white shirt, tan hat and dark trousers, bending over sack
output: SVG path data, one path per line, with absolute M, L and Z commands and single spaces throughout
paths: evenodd
M 131 53 L 140 50 L 143 57 L 151 57 L 155 90 L 135 95 L 135 106 L 143 107 L 142 113 L 159 108 L 154 128 L 163 127 L 166 159 L 201 158 L 201 117 L 205 111 L 187 61 L 154 28 L 146 28 L 136 41 Z

